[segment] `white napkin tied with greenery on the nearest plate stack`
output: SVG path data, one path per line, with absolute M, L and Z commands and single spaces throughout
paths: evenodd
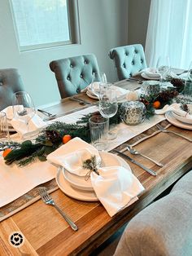
M 63 166 L 72 174 L 85 176 L 88 170 L 84 170 L 82 164 L 91 156 L 96 156 L 97 161 L 101 161 L 96 148 L 80 138 L 74 138 L 50 153 L 47 160 Z M 91 172 L 91 183 L 110 216 L 137 201 L 137 196 L 144 190 L 132 172 L 122 166 L 99 167 L 98 172 L 99 175 Z

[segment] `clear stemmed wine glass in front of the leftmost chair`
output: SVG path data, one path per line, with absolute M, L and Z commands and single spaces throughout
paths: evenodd
M 14 118 L 23 121 L 26 126 L 26 134 L 28 133 L 29 121 L 34 117 L 36 110 L 33 99 L 26 91 L 17 91 L 13 99 Z

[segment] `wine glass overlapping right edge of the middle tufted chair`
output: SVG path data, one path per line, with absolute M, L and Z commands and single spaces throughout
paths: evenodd
M 100 95 L 100 86 L 104 86 L 107 84 L 107 76 L 103 72 L 93 73 L 92 81 L 91 81 L 91 90 L 94 95 L 96 95 L 99 99 Z

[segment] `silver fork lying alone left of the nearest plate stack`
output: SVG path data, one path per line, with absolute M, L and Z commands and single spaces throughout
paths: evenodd
M 67 214 L 64 214 L 63 211 L 60 210 L 60 208 L 57 205 L 55 205 L 55 201 L 48 194 L 48 192 L 46 191 L 46 188 L 39 188 L 38 190 L 39 190 L 39 194 L 41 196 L 42 201 L 44 201 L 46 205 L 53 205 L 55 209 L 59 211 L 59 214 L 61 214 L 63 218 L 67 221 L 69 226 L 72 227 L 74 231 L 78 230 L 78 227 L 76 226 L 75 223 L 72 222 L 71 218 L 69 218 Z

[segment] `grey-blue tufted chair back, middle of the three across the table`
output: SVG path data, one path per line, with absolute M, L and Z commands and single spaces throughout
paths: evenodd
M 91 83 L 93 73 L 99 81 L 98 62 L 93 54 L 53 60 L 50 70 L 55 72 L 61 98 L 81 92 Z

